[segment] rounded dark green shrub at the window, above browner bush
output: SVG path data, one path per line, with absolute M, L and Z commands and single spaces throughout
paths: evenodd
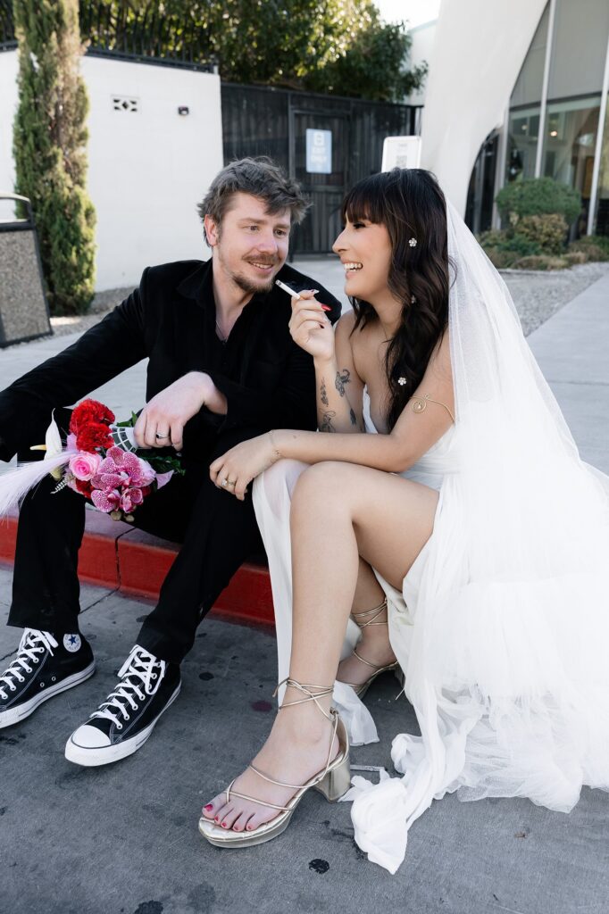
M 525 178 L 502 187 L 497 194 L 497 207 L 502 218 L 514 227 L 525 216 L 558 213 L 567 225 L 582 212 L 582 199 L 572 187 L 551 177 Z

